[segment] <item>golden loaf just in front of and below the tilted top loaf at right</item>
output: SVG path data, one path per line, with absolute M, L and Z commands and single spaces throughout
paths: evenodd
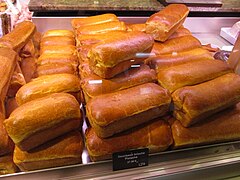
M 155 42 L 153 45 L 152 53 L 155 55 L 171 54 L 200 47 L 201 42 L 197 38 L 193 37 L 192 35 L 187 35 L 169 39 L 164 43 Z

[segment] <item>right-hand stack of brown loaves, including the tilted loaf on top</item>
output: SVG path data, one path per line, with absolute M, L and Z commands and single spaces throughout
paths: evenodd
M 173 4 L 146 22 L 146 32 L 158 41 L 152 51 L 156 56 L 146 62 L 174 104 L 174 148 L 239 139 L 240 76 L 214 60 L 193 36 L 176 34 L 186 15 L 184 5 Z

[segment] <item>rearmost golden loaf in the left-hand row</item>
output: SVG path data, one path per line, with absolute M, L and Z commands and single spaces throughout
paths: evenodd
M 69 36 L 47 36 L 41 39 L 40 46 L 75 45 L 75 39 Z

